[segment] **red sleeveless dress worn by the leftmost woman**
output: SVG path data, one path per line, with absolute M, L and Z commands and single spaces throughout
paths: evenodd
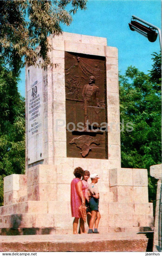
M 77 184 L 81 181 L 79 178 L 74 178 L 71 181 L 71 216 L 75 218 L 81 218 L 81 213 L 79 211 L 79 206 L 82 200 L 78 194 Z M 82 184 L 83 196 L 85 198 L 85 187 Z

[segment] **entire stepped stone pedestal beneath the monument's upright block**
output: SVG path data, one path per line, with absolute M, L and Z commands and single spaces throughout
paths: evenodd
M 63 173 L 57 176 L 57 168 L 52 165 L 36 165 L 29 168 L 26 175 L 6 177 L 5 205 L 0 207 L 1 235 L 72 233 L 70 183 L 73 169 L 71 166 L 66 180 Z M 146 231 L 146 227 L 151 230 L 153 206 L 148 202 L 147 170 L 119 168 L 105 172 L 100 169 L 98 175 L 101 177 L 98 183 L 100 232 L 139 232 Z M 26 191 L 24 201 L 22 188 Z M 88 229 L 87 223 L 85 228 Z

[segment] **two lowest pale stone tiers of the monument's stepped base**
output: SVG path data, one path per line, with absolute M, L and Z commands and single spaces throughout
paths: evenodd
M 50 231 L 56 230 L 57 234 L 60 230 L 60 234 L 71 233 L 73 218 L 71 218 L 70 202 L 63 202 L 61 206 L 62 211 L 57 201 L 26 201 L 2 206 L 0 207 L 0 233 L 8 233 L 8 230 L 13 228 L 36 230 L 32 231 L 33 234 L 38 234 L 38 230 L 39 234 L 43 234 L 42 230 L 45 228 Z M 144 209 L 144 214 L 140 209 Z M 101 213 L 99 228 L 106 232 L 123 232 L 126 228 L 135 229 L 135 227 L 136 231 L 140 231 L 140 227 L 153 226 L 152 204 L 150 203 L 121 205 L 119 202 L 105 202 L 104 207 L 99 206 L 99 210 Z M 19 232 L 13 233 L 12 230 L 11 233 Z M 20 234 L 23 233 L 20 232 Z

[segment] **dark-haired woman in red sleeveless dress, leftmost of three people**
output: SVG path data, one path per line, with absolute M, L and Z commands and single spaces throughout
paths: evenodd
M 81 177 L 84 174 L 84 170 L 81 167 L 77 167 L 74 170 L 75 178 L 71 181 L 71 215 L 74 218 L 73 221 L 73 234 L 78 234 L 77 227 L 79 218 L 82 218 L 79 211 L 80 205 L 85 205 L 85 187 L 81 182 Z M 84 221 L 81 219 L 81 229 L 84 233 Z

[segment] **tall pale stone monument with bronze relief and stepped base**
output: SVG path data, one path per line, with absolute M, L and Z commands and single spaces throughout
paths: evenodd
M 66 32 L 49 42 L 53 67 L 26 67 L 26 174 L 4 179 L 1 235 L 72 233 L 78 166 L 100 177 L 100 232 L 152 227 L 147 170 L 121 168 L 117 49 Z

